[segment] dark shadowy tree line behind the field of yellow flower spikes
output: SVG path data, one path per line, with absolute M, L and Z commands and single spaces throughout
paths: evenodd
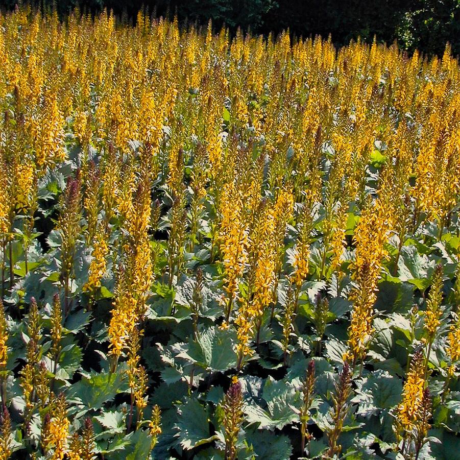
M 19 0 L 0 0 L 13 8 Z M 26 3 L 25 0 L 23 0 Z M 410 51 L 442 55 L 446 42 L 460 53 L 460 0 L 32 0 L 40 8 L 57 8 L 65 15 L 76 6 L 97 13 L 104 8 L 126 20 L 147 7 L 156 15 L 177 14 L 184 23 L 226 25 L 253 33 L 275 34 L 283 29 L 295 36 L 332 36 L 337 45 L 358 36 L 392 43 Z

